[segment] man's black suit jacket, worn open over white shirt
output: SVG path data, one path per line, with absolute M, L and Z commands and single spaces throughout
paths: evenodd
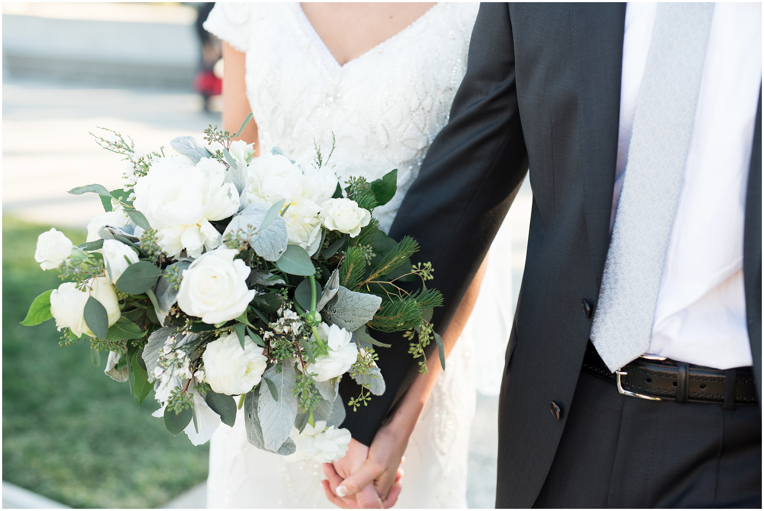
M 450 121 L 390 231 L 417 239 L 416 259 L 435 267 L 432 285 L 445 305 L 433 322 L 442 332 L 530 168 L 528 252 L 500 400 L 499 479 L 512 481 L 500 488 L 507 506 L 533 506 L 544 483 L 591 329 L 581 300 L 597 304 L 610 243 L 625 14 L 625 3 L 482 4 Z M 761 232 L 759 97 L 743 259 L 759 395 Z M 361 442 L 371 442 L 413 366 L 400 335 L 385 339 L 394 342 L 378 350 L 387 395 L 348 410 L 343 424 Z M 562 407 L 559 420 L 549 412 L 552 400 Z

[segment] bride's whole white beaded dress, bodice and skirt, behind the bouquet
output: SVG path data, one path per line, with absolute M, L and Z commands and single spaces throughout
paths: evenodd
M 478 4 L 440 3 L 390 39 L 340 66 L 298 3 L 219 3 L 205 27 L 247 54 L 247 95 L 261 151 L 315 156 L 345 181 L 398 169 L 398 192 L 374 214 L 389 230 L 465 74 Z M 466 507 L 475 390 L 471 347 L 460 339 L 414 429 L 397 507 Z M 240 411 L 241 414 L 241 411 Z M 333 507 L 320 464 L 287 463 L 249 445 L 244 417 L 210 444 L 210 508 Z

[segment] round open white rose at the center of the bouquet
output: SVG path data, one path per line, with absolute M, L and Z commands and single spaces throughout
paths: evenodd
M 183 272 L 178 307 L 205 323 L 233 320 L 247 310 L 257 291 L 247 288 L 250 268 L 233 249 L 216 249 L 192 262 Z

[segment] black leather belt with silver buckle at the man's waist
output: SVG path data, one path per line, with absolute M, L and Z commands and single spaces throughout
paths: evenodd
M 590 341 L 581 371 L 610 381 L 621 394 L 643 399 L 724 403 L 725 410 L 734 410 L 735 405 L 759 403 L 751 367 L 714 369 L 640 357 L 612 373 Z

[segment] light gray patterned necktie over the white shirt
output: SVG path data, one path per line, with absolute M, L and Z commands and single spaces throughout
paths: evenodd
M 659 4 L 591 341 L 610 371 L 647 351 L 679 201 L 713 4 Z

